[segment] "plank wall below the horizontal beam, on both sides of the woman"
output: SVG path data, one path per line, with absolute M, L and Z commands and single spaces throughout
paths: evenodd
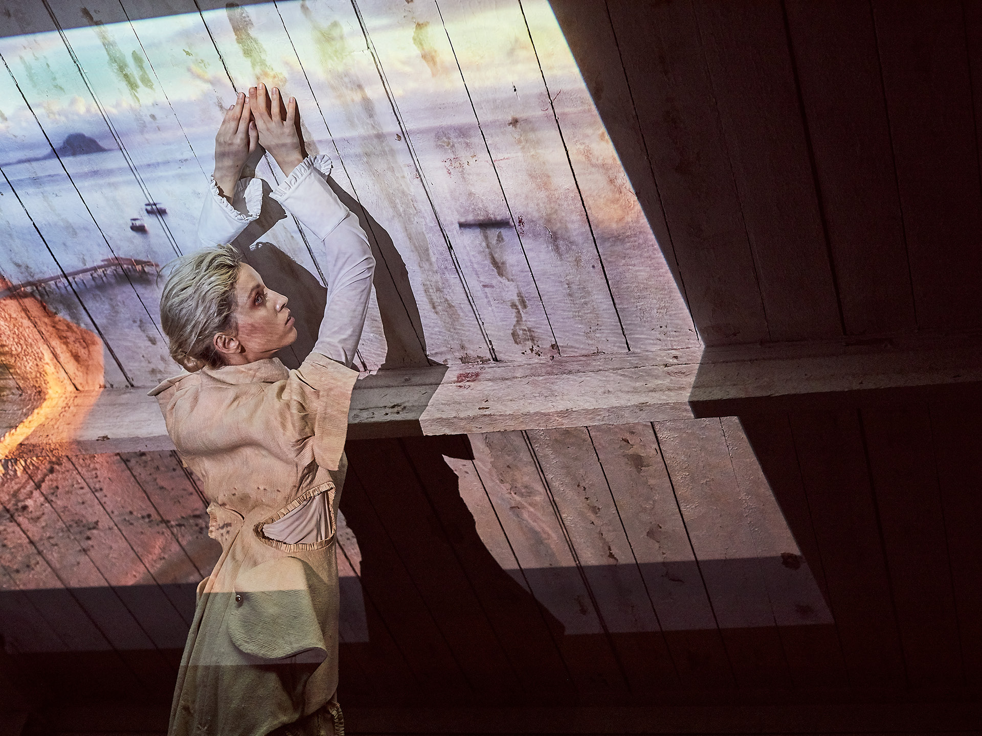
M 977 428 L 945 406 L 353 441 L 343 693 L 961 692 Z M 93 682 L 116 667 L 167 690 L 217 552 L 173 454 L 20 460 L 3 488 L 8 650 L 101 651 Z

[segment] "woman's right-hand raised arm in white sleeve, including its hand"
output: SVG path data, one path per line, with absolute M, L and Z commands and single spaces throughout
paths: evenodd
M 259 141 L 287 175 L 271 196 L 322 243 L 317 260 L 328 282 L 327 305 L 313 350 L 351 366 L 368 310 L 375 259 L 357 217 L 327 182 L 330 159 L 306 156 L 297 101 L 291 97 L 284 105 L 279 90 L 273 87 L 271 92 L 270 100 L 262 84 L 249 89 Z

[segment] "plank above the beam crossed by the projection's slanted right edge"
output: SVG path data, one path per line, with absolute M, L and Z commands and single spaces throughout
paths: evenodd
M 694 344 L 698 336 L 684 302 L 672 235 L 607 4 L 550 0 L 548 5 L 523 2 L 521 7 L 543 75 L 553 90 L 550 96 L 563 135 L 572 142 L 567 150 L 573 172 L 587 183 L 580 186 L 580 192 L 591 223 L 599 230 L 598 245 L 607 237 L 620 242 L 627 236 L 631 242 L 627 248 L 609 244 L 601 251 L 631 350 L 660 346 L 645 347 L 647 341 L 638 325 L 651 331 L 649 341 L 679 347 Z M 557 22 L 561 38 L 553 36 Z M 540 43 L 543 28 L 549 29 L 547 40 L 553 41 L 545 47 Z M 563 77 L 557 79 L 557 75 Z M 557 90 L 561 93 L 555 94 Z M 573 104 L 567 99 L 571 92 Z M 589 112 L 591 107 L 597 115 Z M 606 227 L 615 222 L 616 232 L 606 233 Z M 632 252 L 645 256 L 631 257 Z M 644 275 L 648 281 L 642 279 Z M 637 325 L 633 325 L 632 317 L 638 320 Z M 665 337 L 655 332 L 662 322 L 669 331 Z

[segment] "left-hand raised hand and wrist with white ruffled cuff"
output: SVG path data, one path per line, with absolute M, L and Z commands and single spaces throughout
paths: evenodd
M 197 221 L 201 245 L 232 242 L 259 216 L 262 183 L 257 179 L 240 180 L 258 139 L 259 131 L 252 120 L 249 99 L 240 92 L 236 103 L 225 111 L 215 135 L 215 172 Z

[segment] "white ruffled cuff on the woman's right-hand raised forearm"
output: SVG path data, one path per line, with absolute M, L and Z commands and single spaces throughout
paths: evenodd
M 323 240 L 348 216 L 348 207 L 327 183 L 331 159 L 307 156 L 270 196 L 294 215 L 304 228 Z

